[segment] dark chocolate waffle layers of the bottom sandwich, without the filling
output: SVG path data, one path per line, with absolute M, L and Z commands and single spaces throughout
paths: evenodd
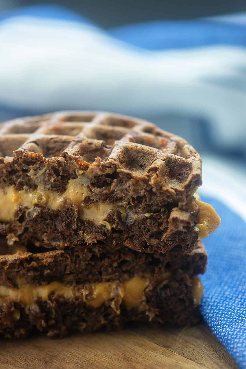
M 78 245 L 68 250 L 40 251 L 14 244 L 1 246 L 0 285 L 17 287 L 17 280 L 29 285 L 46 285 L 60 281 L 66 286 L 87 286 L 91 282 L 117 280 L 118 287 L 134 276 L 148 275 L 140 306 L 127 310 L 119 288 L 111 299 L 98 307 L 85 303 L 80 294 L 67 299 L 50 293 L 46 301 L 36 299 L 25 305 L 8 298 L 0 299 L 0 334 L 4 337 L 25 337 L 38 329 L 48 336 L 63 336 L 73 331 L 94 331 L 101 328 L 122 328 L 129 321 L 141 320 L 175 324 L 194 324 L 198 321 L 198 305 L 194 300 L 193 277 L 204 273 L 207 255 L 201 241 L 189 254 L 180 248 L 153 255 L 129 248 L 106 251 L 102 245 Z M 8 254 L 13 253 L 12 255 Z M 163 276 L 169 273 L 163 283 Z M 20 283 L 20 282 L 18 282 Z M 89 292 L 88 284 L 88 295 Z

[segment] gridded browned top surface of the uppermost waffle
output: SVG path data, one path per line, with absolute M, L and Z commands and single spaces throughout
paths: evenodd
M 44 158 L 70 154 L 89 164 L 100 157 L 137 175 L 165 163 L 166 180 L 178 189 L 201 176 L 200 155 L 187 141 L 147 121 L 110 113 L 70 111 L 8 121 L 0 128 L 0 156 L 18 151 Z

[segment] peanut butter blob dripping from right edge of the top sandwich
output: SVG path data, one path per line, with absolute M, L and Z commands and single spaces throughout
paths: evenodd
M 194 201 L 200 206 L 197 228 L 199 230 L 199 238 L 201 239 L 209 236 L 219 227 L 221 218 L 210 204 L 201 201 L 197 192 L 194 193 L 194 197 L 196 199 Z

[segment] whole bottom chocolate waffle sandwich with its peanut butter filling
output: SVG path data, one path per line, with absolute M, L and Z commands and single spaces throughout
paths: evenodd
M 126 248 L 116 259 L 114 253 L 110 259 L 96 251 L 83 258 L 83 247 L 40 253 L 40 248 L 4 242 L 0 238 L 0 336 L 22 338 L 35 329 L 62 337 L 73 331 L 119 329 L 134 320 L 175 325 L 198 321 L 203 288 L 197 274 L 205 272 L 207 262 L 201 242 L 191 254 L 159 254 L 161 269 L 154 256 Z M 75 257 L 80 253 L 82 258 Z M 112 274 L 105 268 L 110 262 Z

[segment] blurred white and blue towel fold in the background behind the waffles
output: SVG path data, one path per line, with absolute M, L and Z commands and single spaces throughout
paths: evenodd
M 111 110 L 245 156 L 245 35 L 246 13 L 107 31 L 57 6 L 0 14 L 0 121 Z

